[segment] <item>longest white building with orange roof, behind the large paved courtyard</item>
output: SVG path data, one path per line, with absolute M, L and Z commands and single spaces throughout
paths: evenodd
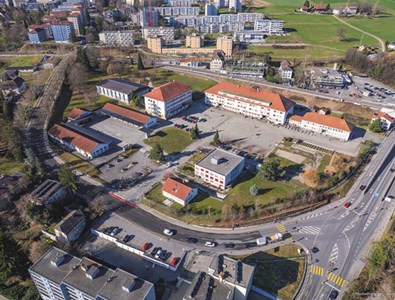
M 209 88 L 205 94 L 206 104 L 252 118 L 266 118 L 276 124 L 285 124 L 295 106 L 293 101 L 280 94 L 226 81 Z

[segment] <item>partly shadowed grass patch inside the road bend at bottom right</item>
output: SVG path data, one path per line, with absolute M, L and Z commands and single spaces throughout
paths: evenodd
M 296 245 L 285 245 L 242 257 L 246 263 L 257 264 L 252 284 L 279 299 L 292 299 L 305 271 L 305 257 L 297 249 Z

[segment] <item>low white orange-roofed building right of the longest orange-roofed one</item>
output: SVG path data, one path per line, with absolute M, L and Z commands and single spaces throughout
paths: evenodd
M 316 112 L 308 112 L 304 116 L 292 116 L 288 123 L 342 141 L 348 141 L 354 130 L 354 125 L 344 119 Z

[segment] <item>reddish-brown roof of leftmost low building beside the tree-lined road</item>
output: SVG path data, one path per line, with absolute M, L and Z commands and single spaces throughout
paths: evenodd
M 95 141 L 94 139 L 85 137 L 59 124 L 52 126 L 52 128 L 48 131 L 48 134 L 62 139 L 88 153 L 91 153 L 99 145 L 99 142 Z

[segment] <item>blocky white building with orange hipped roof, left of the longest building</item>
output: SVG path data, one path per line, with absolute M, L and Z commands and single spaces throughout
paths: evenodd
M 192 104 L 192 89 L 178 81 L 155 88 L 144 95 L 145 111 L 150 115 L 169 119 Z

